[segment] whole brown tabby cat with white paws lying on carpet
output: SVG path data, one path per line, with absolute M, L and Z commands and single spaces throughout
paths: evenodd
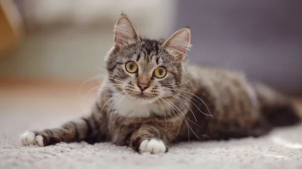
M 191 32 L 167 40 L 137 34 L 121 15 L 91 114 L 53 129 L 27 131 L 23 145 L 111 141 L 162 153 L 178 141 L 258 137 L 300 117 L 282 94 L 235 71 L 188 62 Z

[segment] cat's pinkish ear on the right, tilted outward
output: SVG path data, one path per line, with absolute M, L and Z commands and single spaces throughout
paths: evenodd
M 165 43 L 165 48 L 183 60 L 190 45 L 191 31 L 189 28 L 183 28 L 174 33 Z

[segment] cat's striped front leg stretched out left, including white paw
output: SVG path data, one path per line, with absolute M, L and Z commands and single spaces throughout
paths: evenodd
M 99 122 L 93 116 L 82 117 L 69 121 L 60 127 L 40 131 L 27 131 L 21 135 L 23 145 L 47 146 L 58 142 L 88 143 L 100 142 L 105 139 L 99 126 Z

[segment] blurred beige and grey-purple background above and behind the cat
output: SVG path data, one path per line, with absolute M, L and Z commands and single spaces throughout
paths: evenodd
M 0 84 L 5 89 L 32 85 L 33 91 L 45 92 L 64 86 L 66 91 L 104 74 L 112 28 L 123 11 L 139 34 L 150 38 L 169 37 L 189 25 L 191 61 L 241 71 L 284 93 L 302 94 L 299 0 L 0 3 Z

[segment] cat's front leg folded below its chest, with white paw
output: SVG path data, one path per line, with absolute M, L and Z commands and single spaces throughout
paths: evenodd
M 133 132 L 130 147 L 137 152 L 161 153 L 168 152 L 168 137 L 165 128 L 154 125 L 142 125 Z

